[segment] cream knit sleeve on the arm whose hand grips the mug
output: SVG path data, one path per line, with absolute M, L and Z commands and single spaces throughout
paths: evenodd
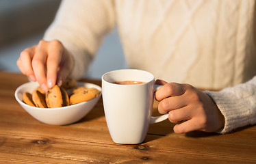
M 256 124 L 256 77 L 220 92 L 205 93 L 214 99 L 225 117 L 225 126 L 217 133 L 230 133 L 235 128 Z

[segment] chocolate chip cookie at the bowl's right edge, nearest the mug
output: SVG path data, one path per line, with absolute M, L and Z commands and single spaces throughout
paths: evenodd
M 89 89 L 85 88 L 84 90 L 81 90 L 71 95 L 70 103 L 71 105 L 75 105 L 80 102 L 88 101 L 88 100 L 91 100 L 92 98 L 99 96 L 99 94 L 101 94 L 101 92 L 94 87 Z

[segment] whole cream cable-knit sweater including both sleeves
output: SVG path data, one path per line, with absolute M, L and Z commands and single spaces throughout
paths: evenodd
M 130 68 L 168 82 L 229 87 L 205 92 L 225 115 L 219 133 L 227 133 L 256 123 L 255 5 L 254 0 L 66 0 L 44 39 L 60 40 L 73 54 L 71 76 L 79 78 L 103 36 L 117 25 Z

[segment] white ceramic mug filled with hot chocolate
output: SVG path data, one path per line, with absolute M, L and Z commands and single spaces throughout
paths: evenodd
M 155 78 L 144 70 L 114 70 L 103 74 L 102 94 L 105 118 L 114 142 L 142 143 L 149 124 L 161 122 L 168 114 L 152 117 Z M 120 85 L 118 81 L 142 81 L 134 85 Z

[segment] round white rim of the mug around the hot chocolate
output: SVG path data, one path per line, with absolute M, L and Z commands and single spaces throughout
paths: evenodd
M 138 71 L 138 72 L 144 72 L 146 74 L 148 74 L 149 76 L 151 76 L 151 79 L 149 81 L 143 81 L 144 83 L 140 83 L 140 84 L 132 84 L 132 85 L 145 85 L 146 83 L 150 83 L 151 81 L 154 81 L 155 80 L 155 77 L 154 75 L 151 73 L 151 72 L 148 72 L 146 70 L 138 70 L 138 69 L 120 69 L 120 70 L 112 70 L 110 72 L 106 72 L 105 74 L 102 75 L 101 77 L 101 80 L 102 81 L 105 81 L 106 83 L 110 83 L 112 85 L 120 85 L 120 84 L 115 84 L 113 82 L 110 82 L 110 81 L 107 81 L 107 79 L 105 79 L 105 77 L 108 75 L 108 74 L 113 74 L 114 72 L 125 72 L 125 71 Z M 125 84 L 127 85 L 127 84 Z M 124 85 L 124 86 L 125 86 Z M 131 84 L 130 84 L 131 85 Z

